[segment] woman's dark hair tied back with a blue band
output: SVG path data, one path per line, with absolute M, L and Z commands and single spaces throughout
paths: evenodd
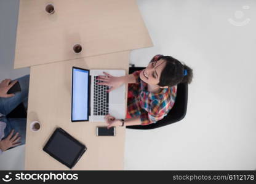
M 186 64 L 180 63 L 172 56 L 156 55 L 152 61 L 158 61 L 164 59 L 166 66 L 162 70 L 159 86 L 174 86 L 178 83 L 191 83 L 193 79 L 193 70 L 186 66 Z

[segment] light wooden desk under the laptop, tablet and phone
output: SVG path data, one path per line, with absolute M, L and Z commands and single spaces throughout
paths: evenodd
M 96 126 L 105 123 L 71 123 L 71 68 L 126 69 L 128 73 L 129 54 L 129 51 L 118 52 L 31 67 L 26 170 L 68 170 L 68 167 L 42 151 L 57 127 L 63 128 L 88 148 L 73 170 L 123 169 L 125 128 L 117 127 L 115 137 L 97 137 Z M 39 132 L 32 132 L 30 123 L 36 120 L 41 122 L 42 128 Z

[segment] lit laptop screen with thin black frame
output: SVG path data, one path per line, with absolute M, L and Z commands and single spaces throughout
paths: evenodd
M 89 71 L 73 67 L 71 121 L 89 120 Z

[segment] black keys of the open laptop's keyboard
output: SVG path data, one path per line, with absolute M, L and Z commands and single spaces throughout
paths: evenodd
M 98 76 L 94 76 L 94 115 L 107 115 L 108 114 L 108 93 L 109 86 L 97 85 L 100 80 Z

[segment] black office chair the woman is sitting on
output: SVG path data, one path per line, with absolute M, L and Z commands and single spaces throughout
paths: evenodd
M 140 71 L 145 69 L 145 67 L 130 67 L 129 74 L 132 74 L 135 71 Z M 174 106 L 170 110 L 170 112 L 166 115 L 166 117 L 162 118 L 162 120 L 152 123 L 150 125 L 136 125 L 136 126 L 126 126 L 126 128 L 130 129 L 154 129 L 159 128 L 161 126 L 166 126 L 177 121 L 182 120 L 186 115 L 186 106 L 188 102 L 188 83 L 179 83 L 177 86 L 177 96 L 175 99 Z

